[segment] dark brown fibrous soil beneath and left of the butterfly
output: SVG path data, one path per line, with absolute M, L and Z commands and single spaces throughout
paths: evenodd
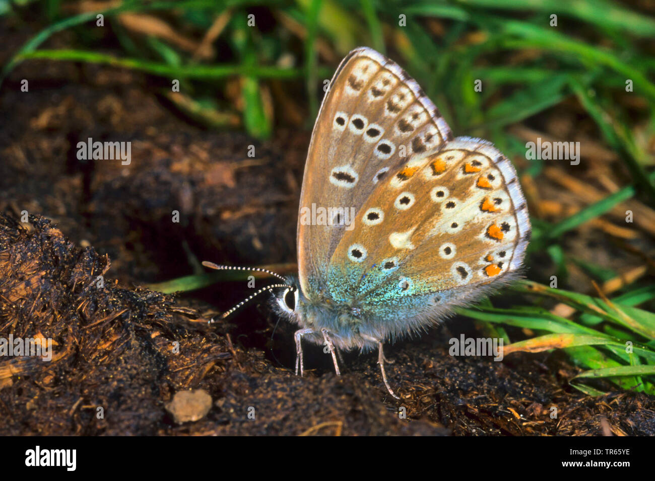
M 561 353 L 452 357 L 447 339 L 475 329 L 463 319 L 387 347 L 396 401 L 372 353 L 346 355 L 337 378 L 307 347 L 309 372 L 297 378 L 293 327 L 272 336 L 263 300 L 208 325 L 248 294 L 242 283 L 180 296 L 138 287 L 200 272 L 200 260 L 294 262 L 309 143 L 284 130 L 267 143 L 207 132 L 149 85 L 39 62 L 3 84 L 0 336 L 56 345 L 49 363 L 0 360 L 0 434 L 655 435 L 655 399 L 586 397 L 568 385 L 577 370 Z M 88 137 L 132 141 L 132 164 L 78 160 Z M 185 389 L 204 389 L 214 406 L 177 425 L 164 404 Z

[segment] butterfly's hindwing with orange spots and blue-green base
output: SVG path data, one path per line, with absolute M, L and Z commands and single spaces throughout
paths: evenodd
M 333 253 L 330 290 L 384 317 L 403 315 L 403 304 L 414 315 L 461 304 L 519 269 L 530 231 L 510 161 L 460 137 L 375 188 Z

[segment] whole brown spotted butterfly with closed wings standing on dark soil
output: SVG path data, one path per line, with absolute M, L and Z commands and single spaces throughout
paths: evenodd
M 341 62 L 323 99 L 297 229 L 298 277 L 270 273 L 284 283 L 224 316 L 283 288 L 274 305 L 299 327 L 296 374 L 303 341 L 329 347 L 337 375 L 337 349 L 377 349 L 396 398 L 384 342 L 517 277 L 531 235 L 510 160 L 489 141 L 454 138 L 419 84 L 366 47 Z

